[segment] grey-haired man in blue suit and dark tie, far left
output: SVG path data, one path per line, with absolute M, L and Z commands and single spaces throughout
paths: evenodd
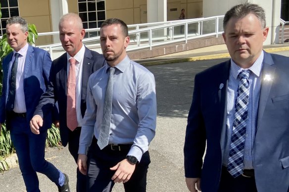
M 28 25 L 21 17 L 6 21 L 6 35 L 14 50 L 3 59 L 0 128 L 6 121 L 27 192 L 40 192 L 36 172 L 45 174 L 59 192 L 69 192 L 67 175 L 44 158 L 47 130 L 52 124 L 51 111 L 38 135 L 33 134 L 29 126 L 48 85 L 50 56 L 47 51 L 27 43 Z

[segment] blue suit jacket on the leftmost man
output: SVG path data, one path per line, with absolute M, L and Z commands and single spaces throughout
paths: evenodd
M 0 122 L 3 123 L 6 120 L 6 127 L 9 126 L 9 116 L 6 115 L 6 94 L 7 83 L 9 82 L 9 68 L 12 65 L 13 52 L 9 53 L 2 62 L 3 80 L 2 80 L 2 95 L 0 98 Z M 43 49 L 28 46 L 25 64 L 24 64 L 24 95 L 26 106 L 26 118 L 27 122 L 31 120 L 35 108 L 39 102 L 41 95 L 46 91 L 48 85 L 49 70 L 51 67 L 51 59 L 49 53 Z M 47 114 L 47 120 L 44 122 L 44 128 L 51 127 L 51 113 Z

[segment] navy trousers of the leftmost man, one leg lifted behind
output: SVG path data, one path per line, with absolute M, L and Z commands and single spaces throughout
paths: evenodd
M 25 117 L 9 117 L 11 141 L 16 149 L 19 168 L 27 192 L 40 192 L 36 172 L 45 174 L 57 186 L 64 184 L 64 175 L 53 164 L 45 160 L 47 129 L 40 134 L 31 132 Z

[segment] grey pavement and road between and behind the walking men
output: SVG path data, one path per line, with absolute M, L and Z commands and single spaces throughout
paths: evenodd
M 289 44 L 264 48 L 268 52 L 289 56 Z M 148 65 L 148 70 L 154 74 L 157 91 L 157 128 L 149 147 L 151 164 L 147 174 L 147 192 L 188 192 L 184 177 L 183 145 L 194 76 L 228 57 L 226 47 L 217 45 L 138 61 Z M 181 62 L 184 61 L 181 59 L 188 61 Z M 164 61 L 168 64 L 156 65 L 165 64 Z M 68 174 L 71 191 L 75 192 L 76 163 L 68 149 L 48 148 L 46 158 Z M 42 192 L 57 192 L 56 186 L 45 175 L 38 175 Z M 18 166 L 0 174 L 0 192 L 25 192 Z M 124 192 L 123 185 L 116 184 L 113 192 Z

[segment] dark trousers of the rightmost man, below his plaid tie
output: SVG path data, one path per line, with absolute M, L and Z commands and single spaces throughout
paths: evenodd
M 218 192 L 257 192 L 255 178 L 242 175 L 234 178 L 228 172 L 227 167 L 222 166 Z

